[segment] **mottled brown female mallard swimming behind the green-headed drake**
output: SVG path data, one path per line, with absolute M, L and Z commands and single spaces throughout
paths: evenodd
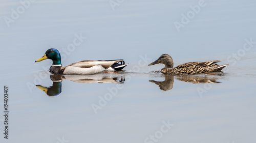
M 172 57 L 168 54 L 162 54 L 158 58 L 158 60 L 149 64 L 148 66 L 161 63 L 165 65 L 165 67 L 161 69 L 161 72 L 164 74 L 192 75 L 206 72 L 220 72 L 224 67 L 228 66 L 228 64 L 222 66 L 215 64 L 218 62 L 220 62 L 220 60 L 206 62 L 189 62 L 181 64 L 174 68 L 174 62 Z

